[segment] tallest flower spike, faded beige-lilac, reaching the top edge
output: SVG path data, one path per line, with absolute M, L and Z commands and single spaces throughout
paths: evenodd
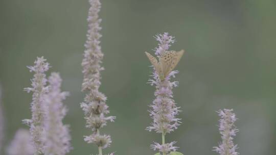
M 106 105 L 106 96 L 99 92 L 101 85 L 100 71 L 104 68 L 100 65 L 103 59 L 103 53 L 100 46 L 101 34 L 99 31 L 101 19 L 99 19 L 99 11 L 101 3 L 99 0 L 89 0 L 90 9 L 88 11 L 88 31 L 85 43 L 84 58 L 82 60 L 83 83 L 82 91 L 87 91 L 81 108 L 84 111 L 86 127 L 90 128 L 92 134 L 85 136 L 87 143 L 95 143 L 99 148 L 99 154 L 102 155 L 102 148 L 110 145 L 111 139 L 109 135 L 100 135 L 100 128 L 105 126 L 107 121 L 114 121 L 116 117 L 105 116 L 109 113 Z

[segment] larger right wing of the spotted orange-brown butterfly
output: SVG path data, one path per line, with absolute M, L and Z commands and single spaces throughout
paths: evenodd
M 180 51 L 171 50 L 171 51 L 167 51 L 166 54 L 164 54 L 159 58 L 165 77 L 167 77 L 168 74 L 175 68 L 175 66 L 180 61 L 183 53 L 184 53 L 184 50 L 180 50 Z

